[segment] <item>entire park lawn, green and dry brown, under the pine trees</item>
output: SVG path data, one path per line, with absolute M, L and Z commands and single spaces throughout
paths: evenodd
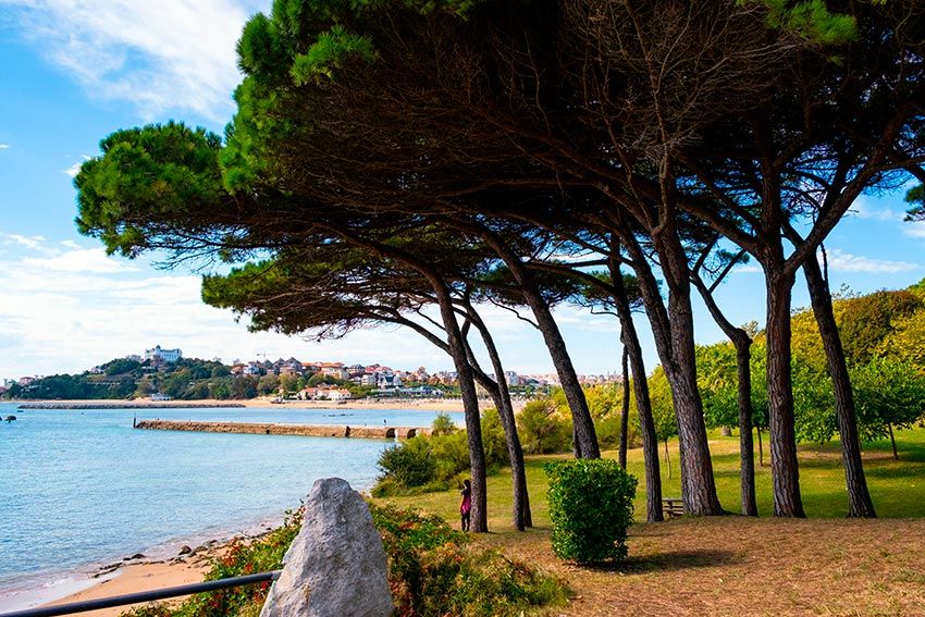
M 766 435 L 765 435 L 766 437 Z M 925 429 L 866 444 L 864 464 L 877 520 L 848 520 L 838 443 L 800 447 L 800 480 L 809 520 L 772 513 L 770 470 L 756 466 L 763 518 L 682 517 L 630 529 L 629 558 L 612 569 L 562 563 L 550 547 L 543 464 L 529 457 L 534 529 L 510 526 L 507 470 L 489 479 L 489 528 L 478 541 L 501 547 L 567 580 L 568 607 L 552 615 L 925 615 Z M 719 499 L 739 511 L 738 436 L 711 434 Z M 680 495 L 677 442 L 669 444 L 673 478 L 663 461 L 663 493 Z M 606 453 L 605 456 L 615 456 Z M 637 520 L 644 520 L 642 453 L 629 453 L 640 479 Z M 458 492 L 384 499 L 457 520 Z M 888 520 L 889 519 L 889 520 Z

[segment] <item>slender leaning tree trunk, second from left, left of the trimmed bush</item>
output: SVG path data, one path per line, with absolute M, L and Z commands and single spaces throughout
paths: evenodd
M 471 308 L 471 307 L 469 307 Z M 482 336 L 492 370 L 495 373 L 494 387 L 486 387 L 495 398 L 501 424 L 507 441 L 507 454 L 510 458 L 510 479 L 514 489 L 514 527 L 523 531 L 525 527 L 533 527 L 533 517 L 530 513 L 530 496 L 527 492 L 527 470 L 523 466 L 523 449 L 520 446 L 520 436 L 517 434 L 517 421 L 514 417 L 514 405 L 510 403 L 510 392 L 507 388 L 507 379 L 504 377 L 504 366 L 495 347 L 494 340 L 481 318 L 473 320 L 476 328 Z M 488 375 L 484 375 L 488 378 Z M 489 380 L 491 381 L 491 380 Z M 483 384 L 485 385 L 485 384 Z

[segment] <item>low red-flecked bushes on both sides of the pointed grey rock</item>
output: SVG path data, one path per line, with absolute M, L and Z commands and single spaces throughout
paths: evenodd
M 471 547 L 470 536 L 440 517 L 370 505 L 388 559 L 396 615 L 517 616 L 531 608 L 565 604 L 568 588 L 556 578 L 507 559 L 497 551 Z M 299 531 L 301 511 L 249 543 L 233 543 L 207 580 L 279 569 Z M 126 617 L 257 617 L 269 583 L 198 594 L 176 608 L 165 604 Z

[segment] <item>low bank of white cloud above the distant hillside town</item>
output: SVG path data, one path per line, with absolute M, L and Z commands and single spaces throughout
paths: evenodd
M 384 326 L 341 341 L 313 342 L 247 332 L 229 310 L 202 304 L 198 275 L 147 269 L 144 262 L 81 248 L 73 240 L 0 234 L 17 252 L 0 269 L 0 377 L 79 372 L 156 344 L 189 357 L 256 359 L 257 354 L 303 360 L 380 361 L 396 368 L 452 366 L 449 358 L 410 331 Z M 539 334 L 507 311 L 486 307 L 485 319 L 506 346 L 513 369 L 548 371 Z M 518 346 L 528 340 L 527 354 Z M 12 350 L 12 351 L 11 351 Z M 546 358 L 544 360 L 544 358 Z

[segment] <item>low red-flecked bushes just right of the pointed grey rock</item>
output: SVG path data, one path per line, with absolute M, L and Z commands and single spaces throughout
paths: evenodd
M 474 548 L 469 536 L 435 516 L 371 506 L 388 557 L 388 582 L 399 615 L 522 615 L 564 604 L 568 589 L 557 579 Z

